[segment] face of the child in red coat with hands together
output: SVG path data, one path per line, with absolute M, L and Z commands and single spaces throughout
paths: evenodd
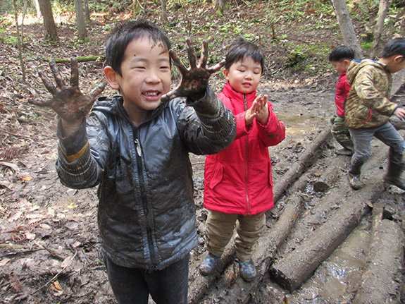
M 250 56 L 232 63 L 229 70 L 223 71 L 226 80 L 237 92 L 249 94 L 256 90 L 261 78 L 261 64 Z

